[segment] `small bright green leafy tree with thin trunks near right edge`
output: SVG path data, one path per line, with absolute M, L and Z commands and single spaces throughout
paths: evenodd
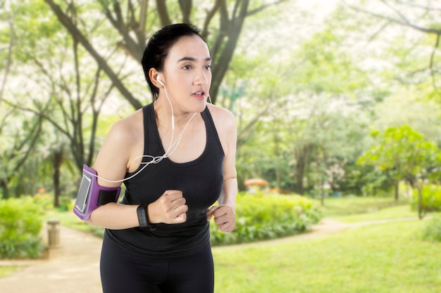
M 395 200 L 400 180 L 416 188 L 417 176 L 436 166 L 439 151 L 435 143 L 407 125 L 392 126 L 383 133 L 373 131 L 372 136 L 376 143 L 359 158 L 359 164 L 373 165 L 392 178 Z

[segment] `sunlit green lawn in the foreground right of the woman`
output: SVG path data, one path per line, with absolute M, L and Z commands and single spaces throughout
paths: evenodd
M 426 222 L 277 245 L 215 247 L 215 292 L 441 292 L 440 243 L 421 240 Z

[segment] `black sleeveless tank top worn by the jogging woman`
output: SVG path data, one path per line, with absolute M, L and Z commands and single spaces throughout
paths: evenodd
M 161 156 L 165 150 L 159 137 L 153 104 L 144 106 L 142 111 L 144 155 Z M 108 236 L 118 245 L 147 256 L 161 257 L 195 252 L 210 241 L 206 211 L 221 194 L 224 152 L 208 107 L 201 115 L 206 128 L 206 145 L 201 156 L 185 163 L 175 163 L 166 158 L 158 164 L 149 164 L 137 176 L 124 181 L 123 204 L 149 204 L 166 190 L 181 190 L 188 206 L 187 221 L 180 224 L 159 223 L 153 231 L 140 227 L 107 229 Z M 144 157 L 143 162 L 148 161 Z M 144 164 L 139 169 L 142 167 Z

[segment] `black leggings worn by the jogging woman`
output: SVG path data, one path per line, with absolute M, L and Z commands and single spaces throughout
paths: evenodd
M 119 247 L 105 233 L 100 271 L 104 293 L 212 293 L 214 290 L 209 243 L 187 256 L 152 259 Z

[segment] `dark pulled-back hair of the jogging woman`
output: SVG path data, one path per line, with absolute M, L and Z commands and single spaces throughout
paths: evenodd
M 141 64 L 153 100 L 158 98 L 159 89 L 151 82 L 149 77 L 150 68 L 155 68 L 158 72 L 161 72 L 164 67 L 164 60 L 166 60 L 170 48 L 178 41 L 178 39 L 180 39 L 180 37 L 192 35 L 197 35 L 204 40 L 201 36 L 200 30 L 194 25 L 188 23 L 176 23 L 174 25 L 167 25 L 161 30 L 155 32 L 147 42 Z

